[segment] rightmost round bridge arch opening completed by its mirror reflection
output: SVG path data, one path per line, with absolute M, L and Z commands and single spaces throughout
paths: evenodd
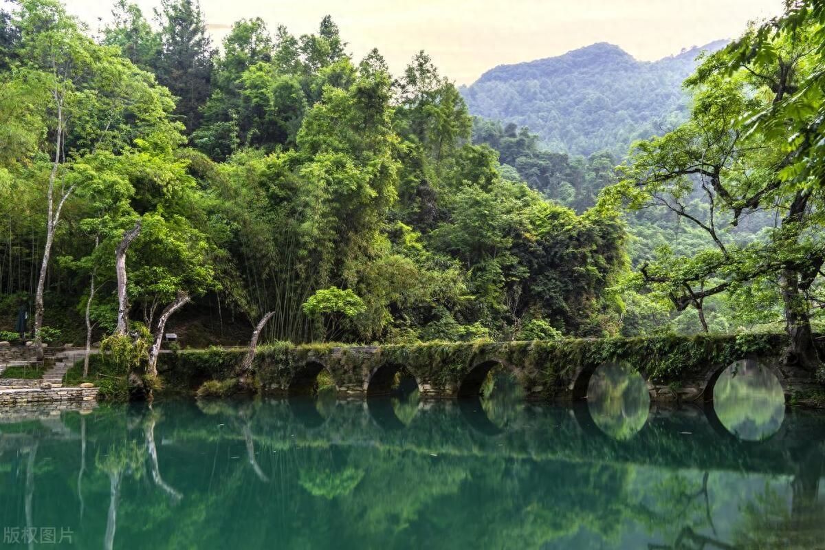
M 785 419 L 785 395 L 771 369 L 756 360 L 741 360 L 719 375 L 714 411 L 739 439 L 765 440 L 780 430 Z

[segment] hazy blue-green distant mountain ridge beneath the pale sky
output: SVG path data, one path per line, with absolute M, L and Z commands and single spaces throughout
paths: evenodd
M 492 68 L 462 87 L 474 115 L 528 126 L 554 151 L 624 156 L 635 139 L 648 138 L 686 115 L 681 88 L 701 51 L 716 40 L 658 61 L 639 61 L 600 42 L 567 54 Z

